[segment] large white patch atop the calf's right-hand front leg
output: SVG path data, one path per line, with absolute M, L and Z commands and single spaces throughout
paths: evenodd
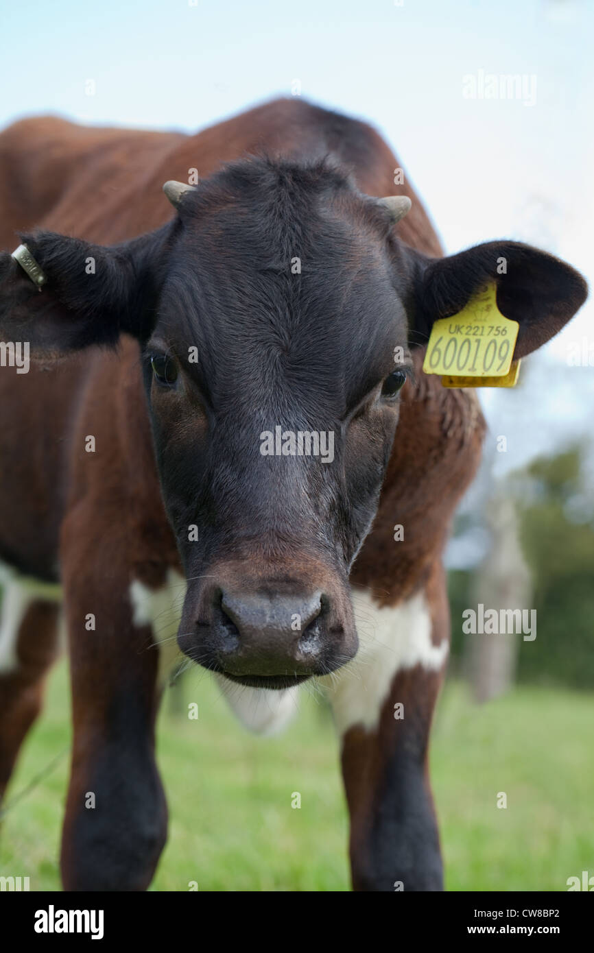
M 334 675 L 319 679 L 327 688 L 340 735 L 354 724 L 373 731 L 392 679 L 400 669 L 422 665 L 438 671 L 448 642 L 431 641 L 431 616 L 424 594 L 395 607 L 380 608 L 366 591 L 353 593 L 358 653 Z

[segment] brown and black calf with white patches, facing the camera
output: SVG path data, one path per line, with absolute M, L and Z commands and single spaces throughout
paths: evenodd
M 152 880 L 154 720 L 180 653 L 255 731 L 317 679 L 354 889 L 443 888 L 442 552 L 484 421 L 423 354 L 485 282 L 519 322 L 515 358 L 586 286 L 516 241 L 444 255 L 400 168 L 369 125 L 299 98 L 195 135 L 42 117 L 0 136 L 0 338 L 31 356 L 0 368 L 0 785 L 63 606 L 66 890 Z

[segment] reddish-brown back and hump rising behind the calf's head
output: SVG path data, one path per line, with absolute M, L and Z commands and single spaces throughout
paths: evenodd
M 440 254 L 439 240 L 412 187 L 394 186 L 399 167 L 365 123 L 299 99 L 279 99 L 195 135 L 77 126 L 52 116 L 24 119 L 0 133 L 0 245 L 32 226 L 112 244 L 172 217 L 161 193 L 168 178 L 205 178 L 245 153 L 307 161 L 336 156 L 371 195 L 408 194 L 400 226 L 408 244 Z

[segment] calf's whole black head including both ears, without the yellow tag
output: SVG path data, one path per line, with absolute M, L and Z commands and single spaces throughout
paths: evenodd
M 179 644 L 230 679 L 286 687 L 357 651 L 349 571 L 409 349 L 491 279 L 522 356 L 580 307 L 584 281 L 514 242 L 429 259 L 323 163 L 246 161 L 174 197 L 174 222 L 114 249 L 25 236 L 48 280 L 38 294 L 4 256 L 0 333 L 26 323 L 42 353 L 138 338 L 188 579 Z

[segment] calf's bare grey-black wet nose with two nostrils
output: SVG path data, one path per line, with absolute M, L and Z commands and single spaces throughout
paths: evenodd
M 225 672 L 244 676 L 314 673 L 323 649 L 325 597 L 223 590 L 215 605 L 219 658 Z M 221 631 L 222 630 L 222 631 Z

